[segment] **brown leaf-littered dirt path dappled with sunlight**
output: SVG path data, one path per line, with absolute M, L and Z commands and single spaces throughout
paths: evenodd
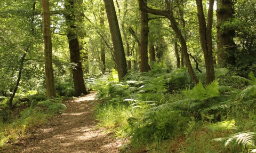
M 96 93 L 63 102 L 67 109 L 43 126 L 31 129 L 26 136 L 4 152 L 120 152 L 125 140 L 114 138 L 97 126 L 90 104 Z M 0 150 L 1 152 L 1 150 Z

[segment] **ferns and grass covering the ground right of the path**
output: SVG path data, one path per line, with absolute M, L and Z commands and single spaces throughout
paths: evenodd
M 123 152 L 253 152 L 255 147 L 255 85 L 224 83 L 227 69 L 215 69 L 216 80 L 191 84 L 185 68 L 171 73 L 154 65 L 150 73 L 126 76 L 123 82 L 102 82 L 95 117 L 99 124 L 130 138 Z M 204 78 L 205 71 L 198 74 Z M 230 80 L 231 80 L 230 79 Z M 245 84 L 244 84 L 245 85 Z

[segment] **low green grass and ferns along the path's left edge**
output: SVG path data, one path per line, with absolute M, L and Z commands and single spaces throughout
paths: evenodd
M 0 107 L 0 148 L 8 147 L 35 126 L 43 125 L 66 106 L 62 99 L 47 99 L 45 95 L 29 95 L 28 102 L 18 103 L 13 110 L 6 102 Z

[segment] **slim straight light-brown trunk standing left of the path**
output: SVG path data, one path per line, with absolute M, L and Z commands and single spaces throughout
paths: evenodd
M 47 98 L 55 97 L 54 77 L 52 68 L 51 14 L 49 0 L 42 0 L 44 26 L 44 66 Z

